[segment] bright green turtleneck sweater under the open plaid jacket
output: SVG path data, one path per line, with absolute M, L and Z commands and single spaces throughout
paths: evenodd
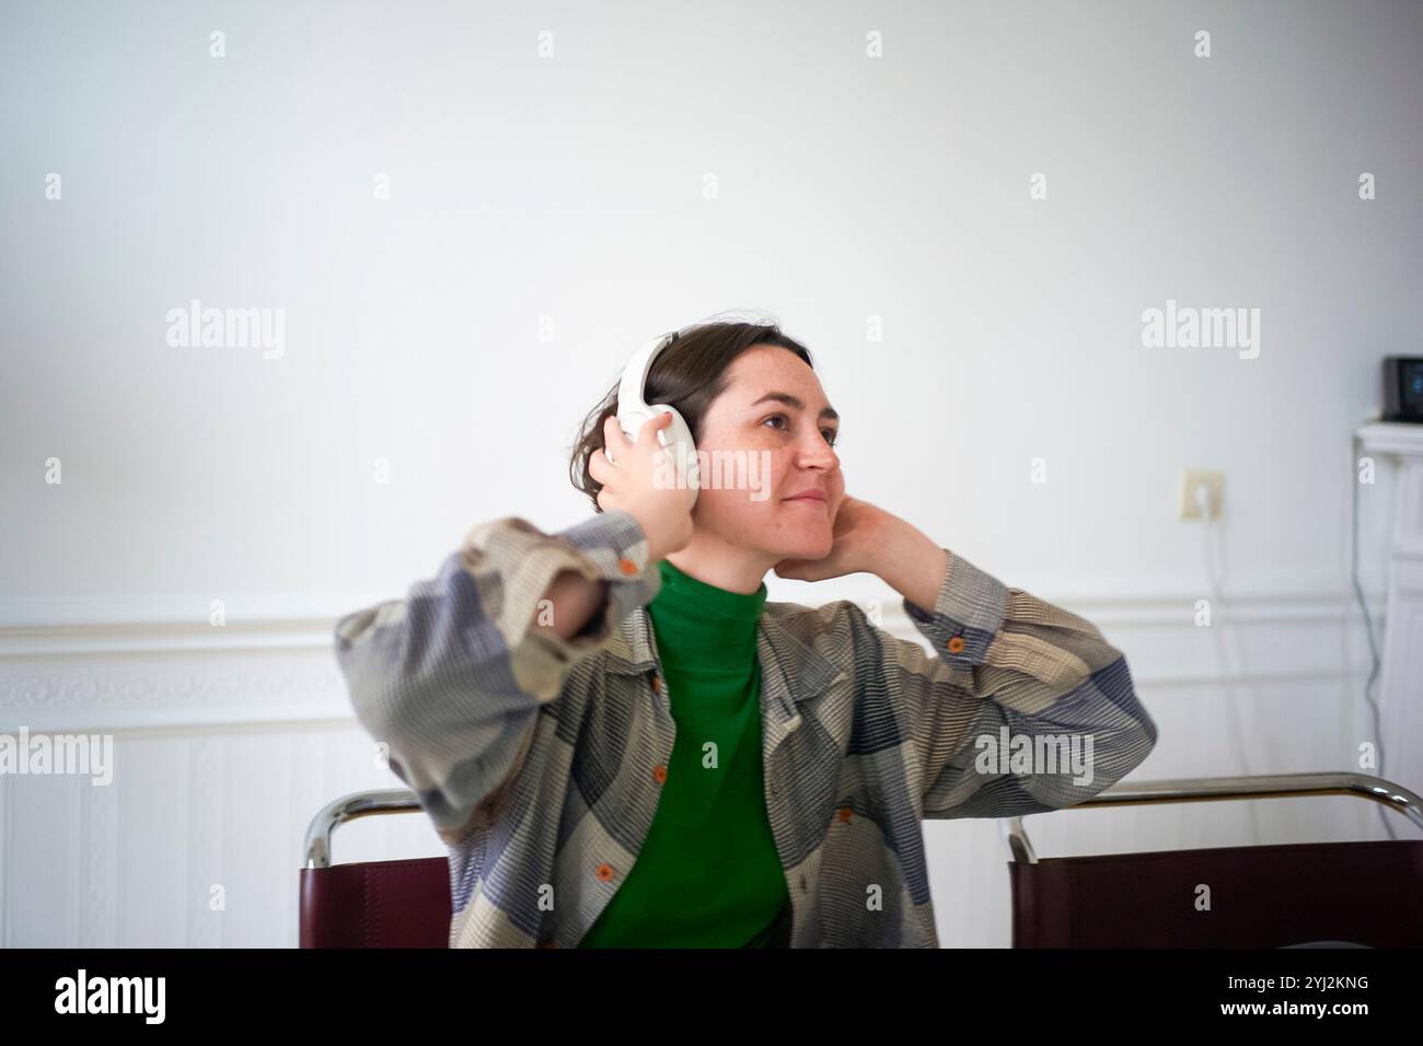
M 657 564 L 647 603 L 677 724 L 657 813 L 579 948 L 764 948 L 790 895 L 766 815 L 756 623 L 729 592 Z

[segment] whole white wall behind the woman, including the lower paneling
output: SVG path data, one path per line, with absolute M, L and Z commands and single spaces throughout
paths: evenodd
M 1353 768 L 1349 437 L 1379 357 L 1419 353 L 1420 50 L 1413 3 L 7 6 L 0 731 L 111 730 L 118 771 L 0 776 L 0 941 L 295 944 L 310 814 L 393 783 L 330 620 L 480 519 L 585 517 L 576 423 L 726 309 L 811 347 L 851 492 L 1127 650 L 1163 727 L 1138 777 Z M 194 297 L 282 309 L 280 359 L 169 346 Z M 1167 299 L 1259 309 L 1258 357 L 1144 347 Z M 1185 467 L 1227 472 L 1234 689 L 1191 625 Z M 1360 490 L 1379 596 L 1389 475 Z M 1265 805 L 1029 828 L 1379 835 Z M 339 860 L 440 852 L 416 818 L 360 831 Z M 1006 944 L 995 825 L 926 834 L 945 944 Z

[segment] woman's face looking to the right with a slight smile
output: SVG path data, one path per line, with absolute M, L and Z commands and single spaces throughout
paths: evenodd
M 697 451 L 712 460 L 702 457 L 693 542 L 751 554 L 766 569 L 830 555 L 845 480 L 832 447 L 840 420 L 815 371 L 788 349 L 747 349 L 702 426 Z M 824 500 L 793 500 L 804 491 Z

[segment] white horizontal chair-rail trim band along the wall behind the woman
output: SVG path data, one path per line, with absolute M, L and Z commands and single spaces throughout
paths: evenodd
M 1197 598 L 1052 602 L 1081 613 L 1123 649 L 1138 687 L 1218 686 L 1225 666 L 1214 638 L 1192 623 Z M 1382 643 L 1383 602 L 1373 601 L 1369 613 Z M 891 635 L 922 642 L 898 601 L 879 598 L 879 615 Z M 1228 599 L 1212 608 L 1212 619 L 1239 625 L 1229 632 L 1238 686 L 1343 682 L 1369 670 L 1352 595 Z M 225 628 L 186 620 L 0 628 L 0 731 L 351 722 L 333 625 L 300 616 Z

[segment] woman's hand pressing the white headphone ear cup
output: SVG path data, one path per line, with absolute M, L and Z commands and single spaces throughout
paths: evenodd
M 630 512 L 647 538 L 649 564 L 666 559 L 669 552 L 686 548 L 692 541 L 692 494 L 682 487 L 657 484 L 657 470 L 672 470 L 667 450 L 657 433 L 672 423 L 672 414 L 659 413 L 643 423 L 638 441 L 630 441 L 618 424 L 616 416 L 603 421 L 603 443 L 612 447 L 612 464 L 602 448 L 588 458 L 588 474 L 603 485 L 598 491 L 598 507 L 605 512 Z

